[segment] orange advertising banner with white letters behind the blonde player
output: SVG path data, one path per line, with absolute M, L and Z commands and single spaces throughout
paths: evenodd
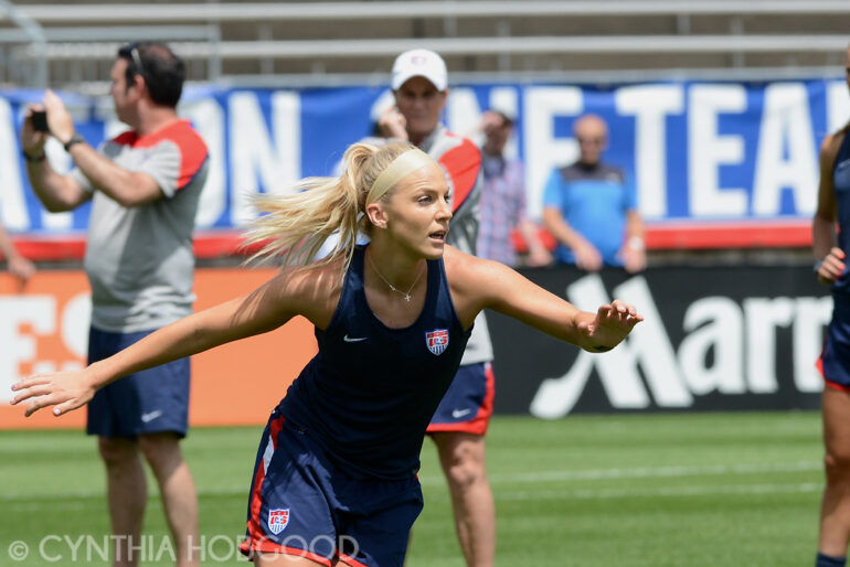
M 195 271 L 195 310 L 253 291 L 273 269 L 202 268 Z M 0 429 L 82 428 L 86 410 L 62 417 L 41 410 L 23 417 L 10 406 L 11 385 L 34 373 L 86 363 L 91 297 L 85 274 L 42 270 L 25 291 L 0 272 Z M 316 354 L 312 325 L 296 318 L 284 327 L 192 357 L 191 425 L 265 424 L 301 367 Z

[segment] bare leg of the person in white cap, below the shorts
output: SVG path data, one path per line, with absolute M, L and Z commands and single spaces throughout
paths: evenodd
M 485 438 L 433 434 L 451 493 L 455 528 L 469 567 L 491 567 L 496 556 L 496 506 L 487 480 Z

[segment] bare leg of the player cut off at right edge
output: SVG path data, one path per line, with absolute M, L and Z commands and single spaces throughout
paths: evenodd
M 850 394 L 824 388 L 822 416 L 827 485 L 820 507 L 817 565 L 833 566 L 843 565 L 850 538 Z

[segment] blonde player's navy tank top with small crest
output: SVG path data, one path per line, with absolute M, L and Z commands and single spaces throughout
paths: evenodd
M 319 353 L 279 409 L 353 475 L 410 478 L 469 331 L 455 312 L 442 258 L 427 261 L 427 296 L 416 321 L 384 325 L 366 303 L 364 250 L 354 252 L 330 324 L 316 329 Z

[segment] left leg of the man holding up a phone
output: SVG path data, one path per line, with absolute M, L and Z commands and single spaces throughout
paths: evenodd
M 106 466 L 106 494 L 113 524 L 115 567 L 135 567 L 139 557 L 132 546 L 141 542 L 141 524 L 148 502 L 148 482 L 139 446 L 124 437 L 99 437 L 98 450 Z

